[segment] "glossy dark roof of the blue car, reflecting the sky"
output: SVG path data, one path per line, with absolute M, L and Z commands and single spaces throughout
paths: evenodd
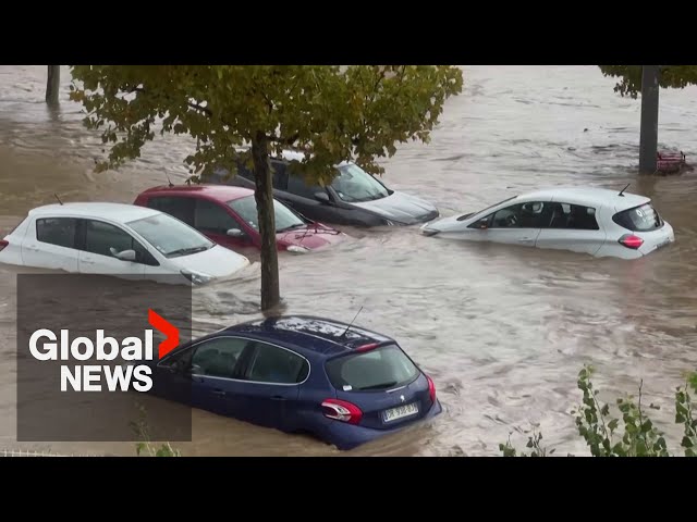
M 223 332 L 247 334 L 325 357 L 348 353 L 374 343 L 394 343 L 387 335 L 348 326 L 347 323 L 315 315 L 280 315 L 230 326 Z

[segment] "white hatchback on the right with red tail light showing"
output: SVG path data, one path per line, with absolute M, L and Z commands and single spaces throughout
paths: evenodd
M 625 187 L 626 188 L 626 187 Z M 551 188 L 421 226 L 426 236 L 635 259 L 675 240 L 651 200 L 624 190 Z

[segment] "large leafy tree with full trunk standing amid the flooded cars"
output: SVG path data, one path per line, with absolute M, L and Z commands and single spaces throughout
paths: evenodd
M 74 65 L 71 99 L 84 104 L 88 128 L 110 144 L 97 170 L 138 158 L 159 134 L 186 134 L 191 179 L 210 167 L 255 173 L 261 236 L 261 308 L 280 301 L 270 156 L 304 151 L 309 183 L 326 185 L 352 159 L 381 174 L 377 160 L 395 144 L 430 140 L 445 100 L 463 75 L 444 65 Z M 80 85 L 82 84 L 82 85 Z M 240 150 L 240 147 L 245 147 Z M 299 163 L 299 164 L 298 164 Z

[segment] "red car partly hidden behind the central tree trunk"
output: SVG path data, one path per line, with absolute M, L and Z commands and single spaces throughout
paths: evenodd
M 254 190 L 229 185 L 160 186 L 140 192 L 134 204 L 173 215 L 232 250 L 259 248 L 261 236 Z M 279 250 L 304 252 L 342 241 L 346 235 L 311 222 L 278 200 L 276 241 Z

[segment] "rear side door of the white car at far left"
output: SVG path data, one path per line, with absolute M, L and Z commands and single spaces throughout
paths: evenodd
M 37 217 L 22 243 L 22 259 L 27 266 L 78 271 L 75 217 Z

